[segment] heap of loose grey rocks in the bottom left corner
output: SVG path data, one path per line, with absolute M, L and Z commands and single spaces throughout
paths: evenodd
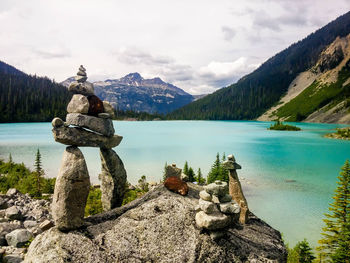
M 53 227 L 50 202 L 9 189 L 0 195 L 0 262 L 22 262 L 29 242 Z

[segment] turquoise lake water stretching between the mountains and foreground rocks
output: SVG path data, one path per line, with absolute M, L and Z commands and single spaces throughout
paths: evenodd
M 269 122 L 159 121 L 114 122 L 124 137 L 114 150 L 124 162 L 128 180 L 141 175 L 159 181 L 165 162 L 185 161 L 206 175 L 216 153 L 234 154 L 249 207 L 280 230 L 294 245 L 307 238 L 317 245 L 323 214 L 332 202 L 340 167 L 350 159 L 350 142 L 322 135 L 342 127 L 298 123 L 300 132 L 269 131 Z M 50 123 L 0 124 L 0 158 L 33 167 L 37 148 L 47 176 L 57 175 L 65 146 L 54 142 Z M 91 181 L 100 172 L 98 149 L 82 149 Z M 293 181 L 293 182 L 291 182 Z

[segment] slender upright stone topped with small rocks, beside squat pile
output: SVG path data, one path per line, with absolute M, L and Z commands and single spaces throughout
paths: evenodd
M 224 162 L 225 168 L 229 171 L 229 192 L 233 200 L 240 206 L 241 212 L 239 222 L 245 224 L 248 218 L 248 203 L 242 191 L 242 186 L 239 181 L 236 170 L 242 167 L 236 163 L 235 157 L 231 154 L 227 156 L 227 161 Z

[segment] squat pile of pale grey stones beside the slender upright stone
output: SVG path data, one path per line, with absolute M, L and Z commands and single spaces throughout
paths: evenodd
M 222 181 L 204 186 L 199 197 L 197 226 L 210 230 L 212 239 L 220 238 L 225 233 L 222 229 L 238 221 L 238 204 L 228 194 L 227 183 Z

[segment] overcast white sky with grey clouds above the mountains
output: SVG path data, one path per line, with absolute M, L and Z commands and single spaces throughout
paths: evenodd
M 349 0 L 0 0 L 0 60 L 60 82 L 139 72 L 192 94 L 236 82 Z

